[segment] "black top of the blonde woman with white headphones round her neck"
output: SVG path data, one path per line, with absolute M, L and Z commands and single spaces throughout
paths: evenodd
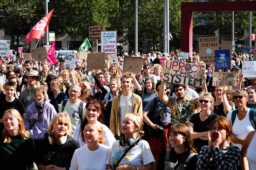
M 59 147 L 61 146 L 56 143 L 50 145 L 47 136 L 44 140 L 41 141 L 41 145 L 37 153 L 37 162 L 40 162 L 45 166 L 56 165 L 61 168 L 70 167 L 71 159 L 75 149 L 80 147 L 78 142 L 71 140 L 66 146 L 64 146 L 64 148 L 56 152 Z

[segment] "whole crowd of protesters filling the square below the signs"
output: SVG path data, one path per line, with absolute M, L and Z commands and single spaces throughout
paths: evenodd
M 1 169 L 256 170 L 252 55 L 215 70 L 195 52 L 136 53 L 141 73 L 124 74 L 126 55 L 103 70 L 0 56 Z M 202 87 L 161 81 L 160 58 L 204 65 Z M 213 87 L 214 72 L 237 72 L 236 86 Z

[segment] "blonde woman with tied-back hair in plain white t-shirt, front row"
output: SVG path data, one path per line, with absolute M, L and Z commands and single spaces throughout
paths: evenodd
M 83 131 L 87 142 L 75 150 L 70 170 L 106 170 L 110 147 L 102 137 L 102 124 L 99 121 L 88 122 Z M 96 161 L 100 158 L 100 161 Z

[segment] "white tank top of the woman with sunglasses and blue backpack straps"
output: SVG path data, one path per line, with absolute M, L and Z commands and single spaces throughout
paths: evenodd
M 232 127 L 233 127 L 233 134 L 237 138 L 245 139 L 249 132 L 255 130 L 249 118 L 250 110 L 251 109 L 248 109 L 246 116 L 241 121 L 237 118 L 237 115 L 235 117 L 235 121 Z M 227 119 L 232 123 L 231 117 L 232 117 L 232 111 L 228 112 L 227 114 Z M 242 148 L 241 144 L 233 144 L 233 145 L 239 147 L 240 150 Z

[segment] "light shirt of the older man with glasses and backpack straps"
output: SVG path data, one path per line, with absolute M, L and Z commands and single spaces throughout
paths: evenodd
M 59 113 L 61 112 L 66 112 L 70 118 L 70 121 L 71 121 L 71 130 L 72 130 L 72 138 L 74 138 L 74 132 L 75 132 L 75 128 L 76 126 L 81 123 L 81 119 L 79 118 L 79 113 L 78 113 L 78 107 L 79 107 L 79 104 L 80 104 L 80 99 L 76 102 L 76 103 L 70 103 L 69 100 L 67 100 L 66 102 L 66 105 L 64 107 L 64 110 L 62 110 L 62 104 L 63 102 L 61 103 L 60 105 L 60 111 Z M 85 106 L 86 106 L 86 103 L 83 104 L 83 119 L 85 118 Z

